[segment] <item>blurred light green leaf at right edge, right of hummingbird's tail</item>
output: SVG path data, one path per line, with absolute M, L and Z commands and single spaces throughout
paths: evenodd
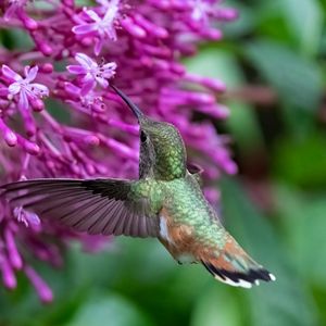
M 308 281 L 326 290 L 325 192 L 308 195 L 289 186 L 278 186 L 275 192 L 279 221 L 297 269 Z

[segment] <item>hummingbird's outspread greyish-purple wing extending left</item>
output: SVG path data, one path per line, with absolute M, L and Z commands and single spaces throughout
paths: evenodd
M 12 206 L 91 235 L 156 237 L 158 217 L 147 198 L 134 200 L 134 181 L 122 179 L 34 179 L 0 187 Z

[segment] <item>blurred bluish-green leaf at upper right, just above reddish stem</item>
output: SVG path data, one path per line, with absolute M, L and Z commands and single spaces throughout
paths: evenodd
M 286 46 L 261 39 L 246 46 L 246 55 L 288 104 L 315 112 L 322 98 L 319 67 Z

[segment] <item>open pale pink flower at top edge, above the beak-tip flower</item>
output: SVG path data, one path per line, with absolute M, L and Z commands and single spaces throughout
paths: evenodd
M 95 46 L 96 55 L 99 55 L 101 52 L 105 39 L 116 40 L 114 22 L 118 15 L 118 2 L 120 0 L 112 0 L 110 2 L 101 1 L 102 8 L 105 5 L 106 10 L 103 17 L 100 17 L 93 10 L 84 10 L 92 23 L 85 22 L 84 24 L 74 26 L 72 29 L 77 35 L 98 35 Z

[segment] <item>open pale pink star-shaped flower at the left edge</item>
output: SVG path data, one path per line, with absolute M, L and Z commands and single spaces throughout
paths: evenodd
M 29 102 L 41 99 L 42 97 L 49 96 L 49 89 L 47 86 L 37 83 L 30 83 L 36 78 L 38 66 L 30 68 L 28 65 L 25 66 L 24 73 L 25 78 L 11 70 L 8 65 L 2 65 L 2 74 L 14 83 L 10 84 L 8 91 L 10 95 L 20 97 L 18 108 L 27 110 Z

